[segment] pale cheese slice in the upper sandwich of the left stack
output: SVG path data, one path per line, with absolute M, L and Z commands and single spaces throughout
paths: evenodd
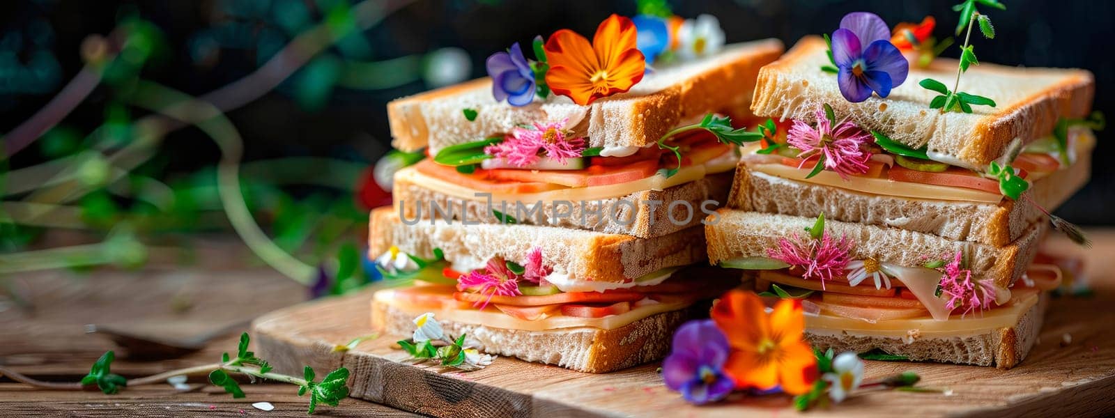
M 658 173 L 650 177 L 637 179 L 634 182 L 609 184 L 603 186 L 568 187 L 539 193 L 489 193 L 474 188 L 464 187 L 459 184 L 447 182 L 424 173 L 419 173 L 414 166 L 403 168 L 395 173 L 396 181 L 403 179 L 413 184 L 421 185 L 434 192 L 467 201 L 486 201 L 488 195 L 492 202 L 523 202 L 524 204 L 534 202 L 591 202 L 607 201 L 630 195 L 642 191 L 662 191 L 669 187 L 682 185 L 689 182 L 705 178 L 706 175 L 725 173 L 736 168 L 738 157 L 735 152 L 712 158 L 701 165 L 681 167 L 671 177 Z M 496 204 L 498 206 L 498 204 Z

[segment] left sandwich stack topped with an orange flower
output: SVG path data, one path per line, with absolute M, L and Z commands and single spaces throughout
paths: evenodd
M 515 45 L 488 59 L 492 78 L 389 105 L 413 165 L 394 175 L 395 207 L 372 212 L 369 252 L 408 285 L 375 294 L 374 327 L 409 336 L 432 312 L 485 352 L 607 372 L 663 357 L 698 301 L 739 284 L 707 268 L 700 222 L 754 137 L 728 116 L 747 118 L 783 47 L 650 67 L 642 30 L 612 16 L 591 46 L 560 30 L 534 60 Z

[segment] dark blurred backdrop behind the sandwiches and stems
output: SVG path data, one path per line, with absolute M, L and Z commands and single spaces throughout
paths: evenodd
M 1019 66 L 1079 67 L 1096 76 L 1095 108 L 1115 117 L 1115 71 L 1107 50 L 1115 38 L 1115 2 L 1004 0 L 1007 10 L 983 8 L 998 37 L 973 41 L 981 61 Z M 81 68 L 79 47 L 90 33 L 106 35 L 123 16 L 153 22 L 165 37 L 165 54 L 143 69 L 187 94 L 201 95 L 244 77 L 289 41 L 299 25 L 328 19 L 336 1 L 313 0 L 165 0 L 4 1 L 0 33 L 0 130 L 9 132 L 41 108 Z M 728 42 L 774 37 L 792 46 L 809 33 L 830 32 L 851 11 L 873 11 L 890 26 L 938 19 L 934 35 L 951 36 L 957 13 L 952 1 L 837 0 L 711 0 L 670 1 L 676 14 L 719 18 Z M 591 36 L 609 13 L 632 16 L 633 0 L 515 1 L 417 0 L 382 23 L 359 32 L 357 39 L 330 48 L 327 58 L 294 72 L 259 100 L 229 113 L 245 142 L 245 161 L 283 156 L 327 156 L 375 162 L 388 149 L 387 101 L 436 85 L 438 80 L 484 76 L 484 59 L 514 41 L 571 28 Z M 418 76 L 440 48 L 459 48 L 437 57 L 438 62 L 468 62 L 468 70 Z M 943 55 L 957 56 L 952 47 Z M 348 61 L 401 62 L 390 71 L 396 79 L 360 79 Z M 338 65 L 340 62 L 340 65 Z M 340 68 L 340 69 L 338 69 Z M 434 68 L 437 70 L 438 68 Z M 445 72 L 448 71 L 448 72 Z M 403 72 L 403 74 L 400 74 Z M 405 74 L 409 72 L 409 74 Z M 378 76 L 377 76 L 378 77 Z M 440 78 L 439 78 L 440 77 Z M 377 84 L 382 81 L 381 84 Z M 394 85 L 378 88 L 380 85 Z M 369 88 L 370 87 L 370 88 Z M 110 88 L 98 87 L 65 119 L 64 125 L 89 132 L 114 108 Z M 115 107 L 119 109 L 119 107 Z M 136 111 L 136 110 L 132 110 Z M 137 115 L 133 115 L 137 116 Z M 1115 157 L 1107 144 L 1112 130 L 1099 134 L 1092 183 L 1058 213 L 1079 224 L 1112 225 L 1115 203 Z M 17 154 L 11 167 L 28 166 L 46 156 L 36 147 Z M 212 165 L 220 153 L 196 129 L 171 134 L 155 158 L 167 173 L 186 173 Z

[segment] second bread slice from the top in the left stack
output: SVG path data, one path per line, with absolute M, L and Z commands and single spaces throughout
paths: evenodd
M 521 224 L 583 229 L 607 234 L 633 235 L 642 239 L 662 236 L 700 225 L 700 221 L 705 217 L 705 213 L 701 212 L 701 204 L 705 201 L 725 202 L 728 196 L 728 189 L 731 187 L 733 175 L 731 173 L 720 173 L 662 191 L 641 191 L 623 197 L 585 202 L 583 212 L 579 202 L 574 203 L 571 207 L 569 205 L 554 207 L 554 202 L 543 202 L 542 208 L 536 212 L 539 216 L 526 216 L 517 221 Z M 500 223 L 500 220 L 492 213 L 492 206 L 488 206 L 486 200 L 479 197 L 476 200 L 453 197 L 401 177 L 395 181 L 394 194 L 396 205 L 403 211 L 401 216 L 404 218 L 416 218 L 419 205 L 424 207 L 424 217 L 428 217 L 430 205 L 436 205 L 437 207 L 454 207 L 453 216 L 458 221 L 467 218 L 469 222 Z M 617 203 L 620 201 L 627 201 L 630 204 L 618 205 Z M 690 216 L 688 213 L 687 206 L 677 205 L 673 207 L 675 213 L 671 221 L 671 214 L 668 208 L 671 202 L 678 201 L 688 202 L 688 207 L 692 208 L 692 215 Z M 648 202 L 660 202 L 661 204 L 652 208 Z M 508 202 L 507 207 L 514 207 L 514 202 Z M 462 205 L 464 205 L 464 211 L 460 210 Z M 493 202 L 492 205 L 501 207 L 498 201 Z M 632 212 L 630 207 L 636 207 L 634 213 L 630 213 Z M 533 208 L 533 206 L 530 208 Z M 607 214 L 607 211 L 614 208 L 619 208 L 620 212 L 614 215 Z M 715 208 L 715 206 L 708 208 Z M 543 214 L 555 212 L 562 214 L 570 212 L 570 216 L 543 216 Z M 465 214 L 464 217 L 460 216 L 462 213 Z M 683 223 L 687 217 L 689 217 L 689 222 Z

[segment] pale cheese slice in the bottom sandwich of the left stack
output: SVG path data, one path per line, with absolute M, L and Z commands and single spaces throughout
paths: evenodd
M 378 303 L 394 307 L 415 317 L 426 312 L 433 312 L 436 318 L 449 321 L 523 331 L 568 332 L 570 329 L 574 328 L 613 330 L 653 314 L 681 310 L 690 304 L 687 302 L 662 302 L 636 307 L 628 312 L 603 318 L 565 317 L 561 313 L 556 313 L 539 320 L 527 321 L 500 312 L 500 310 L 495 309 L 495 307 L 489 307 L 484 310 L 457 308 L 456 303 L 452 303 L 452 295 L 448 297 L 447 303 L 443 303 L 442 307 L 434 307 L 407 303 L 400 298 L 395 298 L 395 292 L 396 290 L 394 289 L 381 290 L 376 292 L 372 299 Z

